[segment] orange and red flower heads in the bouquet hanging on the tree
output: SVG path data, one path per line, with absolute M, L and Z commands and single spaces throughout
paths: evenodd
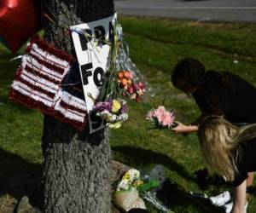
M 130 95 L 130 98 L 135 99 L 137 102 L 141 101 L 141 96 L 145 91 L 145 83 L 142 81 L 136 82 L 130 71 L 119 71 L 117 72 L 117 77 L 119 85 L 125 89 L 126 94 Z

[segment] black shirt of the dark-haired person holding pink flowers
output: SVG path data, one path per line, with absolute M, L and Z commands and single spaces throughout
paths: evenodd
M 230 82 L 230 86 L 219 83 L 216 72 L 207 72 L 209 80 L 192 94 L 201 112 L 224 114 L 231 123 L 256 123 L 256 88 L 253 84 L 231 72 L 218 72 Z M 216 112 L 218 106 L 221 112 Z

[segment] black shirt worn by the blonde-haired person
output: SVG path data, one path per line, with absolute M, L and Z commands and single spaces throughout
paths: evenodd
M 241 155 L 236 162 L 239 173 L 236 173 L 234 187 L 247 179 L 247 173 L 256 171 L 256 138 L 240 143 Z

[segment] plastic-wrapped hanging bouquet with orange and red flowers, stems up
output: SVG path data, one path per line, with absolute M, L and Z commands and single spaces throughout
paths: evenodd
M 109 97 L 120 98 L 127 95 L 139 102 L 147 89 L 148 83 L 129 58 L 129 49 L 123 39 L 122 27 L 118 22 L 113 26 L 113 35 L 111 61 L 99 99 L 106 100 Z

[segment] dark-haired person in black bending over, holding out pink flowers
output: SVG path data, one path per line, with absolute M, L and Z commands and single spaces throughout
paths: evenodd
M 232 124 L 256 123 L 256 88 L 231 72 L 207 71 L 193 58 L 177 63 L 172 72 L 172 84 L 184 93 L 189 93 L 201 110 L 201 117 L 191 125 L 178 123 L 175 133 L 190 133 L 198 130 L 201 119 L 207 115 L 224 116 Z M 253 184 L 253 174 L 247 186 Z

